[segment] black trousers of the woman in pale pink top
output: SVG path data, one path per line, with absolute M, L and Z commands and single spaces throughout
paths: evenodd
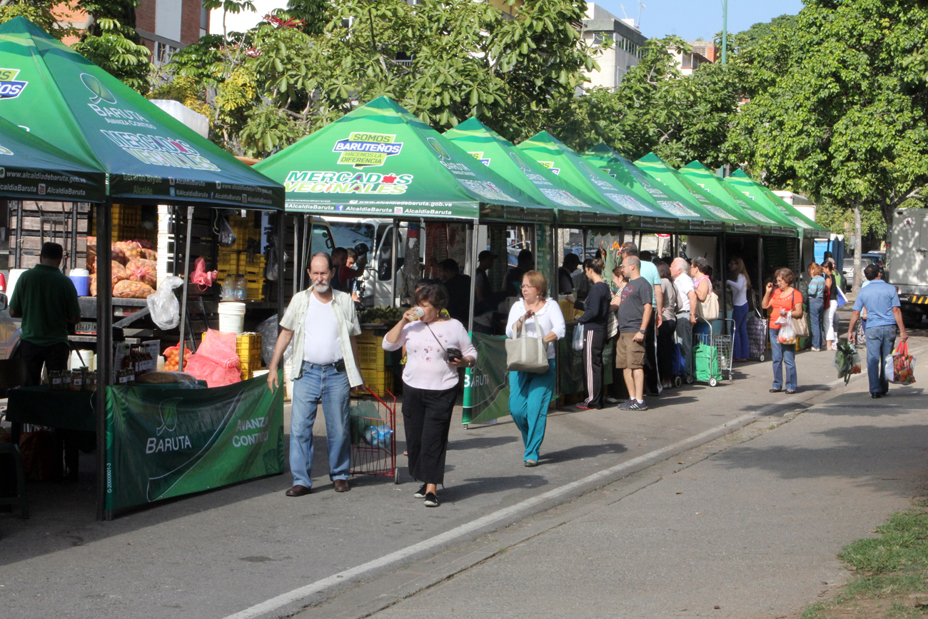
M 445 454 L 458 387 L 437 391 L 403 383 L 403 427 L 409 474 L 424 484 L 445 483 Z

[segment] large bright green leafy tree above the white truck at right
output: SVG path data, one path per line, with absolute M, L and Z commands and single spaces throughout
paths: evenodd
M 765 183 L 853 213 L 857 238 L 870 210 L 885 226 L 928 184 L 925 23 L 918 0 L 810 0 L 745 50 L 751 101 L 729 148 Z

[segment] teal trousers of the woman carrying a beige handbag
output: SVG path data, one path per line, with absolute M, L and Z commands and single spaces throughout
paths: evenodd
M 554 359 L 548 359 L 548 371 L 544 374 L 509 372 L 509 414 L 522 432 L 525 445 L 525 457 L 522 459 L 538 461 L 548 425 L 548 405 L 557 377 Z

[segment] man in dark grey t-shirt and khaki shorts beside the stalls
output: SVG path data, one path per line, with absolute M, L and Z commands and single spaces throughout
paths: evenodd
M 638 256 L 622 261 L 622 274 L 628 283 L 612 301 L 618 309 L 619 339 L 615 344 L 615 367 L 622 369 L 629 400 L 619 405 L 623 410 L 647 410 L 644 403 L 644 338 L 651 321 L 653 290 L 651 282 L 641 277 Z

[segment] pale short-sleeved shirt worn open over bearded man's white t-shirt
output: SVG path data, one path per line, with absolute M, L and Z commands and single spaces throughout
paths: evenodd
M 287 312 L 284 313 L 283 319 L 280 320 L 280 326 L 284 329 L 293 331 L 293 358 L 297 359 L 296 367 L 293 368 L 293 379 L 296 380 L 303 376 L 303 364 L 299 362 L 303 359 L 303 348 L 306 342 L 306 332 L 316 331 L 315 325 L 306 325 L 306 312 L 309 311 L 309 298 L 315 297 L 313 288 L 297 292 L 290 299 L 290 305 L 287 306 Z M 342 344 L 342 358 L 345 360 L 345 369 L 348 372 L 348 382 L 352 387 L 364 384 L 361 378 L 361 370 L 354 365 L 354 352 L 351 348 L 351 339 L 353 336 L 361 335 L 361 324 L 357 321 L 357 312 L 354 311 L 354 301 L 351 295 L 341 290 L 332 290 L 332 314 L 335 315 L 335 324 L 339 331 L 339 342 Z

